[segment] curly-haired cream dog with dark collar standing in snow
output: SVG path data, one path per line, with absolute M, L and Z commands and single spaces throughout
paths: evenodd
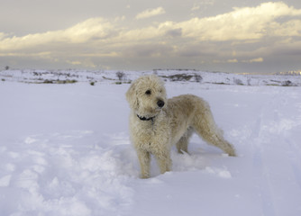
M 141 76 L 125 94 L 130 104 L 130 137 L 137 151 L 141 178 L 150 177 L 150 154 L 160 173 L 170 171 L 170 149 L 187 152 L 188 140 L 196 132 L 208 144 L 235 156 L 233 145 L 223 139 L 223 130 L 215 122 L 209 104 L 193 94 L 167 99 L 164 82 L 159 76 Z

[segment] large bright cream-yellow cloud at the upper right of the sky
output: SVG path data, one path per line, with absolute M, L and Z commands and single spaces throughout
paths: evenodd
M 183 36 L 197 40 L 258 40 L 265 35 L 300 35 L 300 21 L 278 23 L 278 18 L 300 16 L 301 10 L 282 2 L 233 8 L 233 12 L 177 23 Z M 294 29 L 296 28 L 296 29 Z

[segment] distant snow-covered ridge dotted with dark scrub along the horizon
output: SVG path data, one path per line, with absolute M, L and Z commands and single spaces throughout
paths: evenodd
M 37 83 L 67 84 L 76 82 L 122 84 L 130 83 L 141 75 L 157 74 L 167 82 L 197 82 L 216 85 L 280 85 L 301 86 L 301 76 L 293 75 L 237 75 L 196 70 L 148 70 L 148 71 L 88 71 L 88 70 L 35 70 L 11 69 L 0 71 L 0 80 Z

